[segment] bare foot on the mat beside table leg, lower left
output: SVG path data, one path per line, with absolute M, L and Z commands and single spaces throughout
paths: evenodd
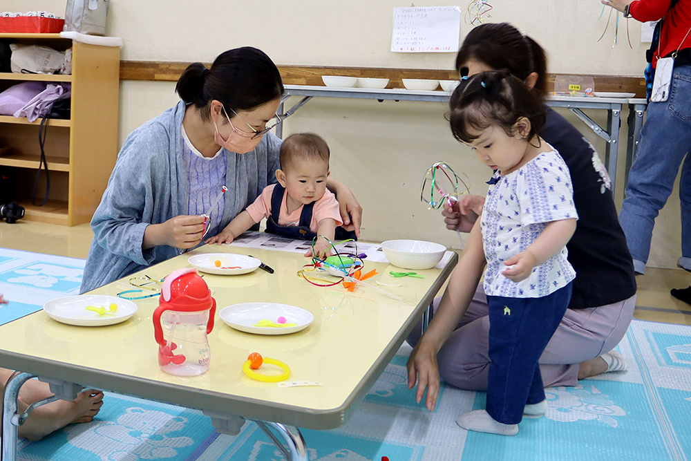
M 41 440 L 68 424 L 92 422 L 102 405 L 103 393 L 89 389 L 79 393 L 73 402 L 57 400 L 39 406 L 26 418 L 26 422 L 19 426 L 19 437 L 26 437 L 32 441 Z M 26 410 L 26 404 L 20 403 L 20 409 Z

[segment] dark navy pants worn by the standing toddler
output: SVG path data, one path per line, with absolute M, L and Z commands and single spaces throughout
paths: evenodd
M 538 359 L 569 307 L 573 288 L 569 283 L 542 298 L 487 296 L 487 413 L 496 421 L 518 424 L 526 404 L 545 399 Z

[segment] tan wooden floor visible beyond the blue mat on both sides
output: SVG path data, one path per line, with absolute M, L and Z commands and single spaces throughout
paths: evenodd
M 0 222 L 0 247 L 27 252 L 86 258 L 93 234 L 88 224 L 76 227 Z M 674 299 L 672 288 L 686 288 L 691 274 L 683 270 L 649 267 L 638 276 L 636 319 L 691 325 L 691 305 Z

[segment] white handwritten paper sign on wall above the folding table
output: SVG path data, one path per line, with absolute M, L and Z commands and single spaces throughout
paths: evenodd
M 461 30 L 458 6 L 393 9 L 391 51 L 394 53 L 456 53 Z

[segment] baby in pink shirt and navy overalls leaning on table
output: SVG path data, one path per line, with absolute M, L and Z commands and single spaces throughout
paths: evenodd
M 278 184 L 266 187 L 245 211 L 207 243 L 231 243 L 250 227 L 267 218 L 267 232 L 312 240 L 315 256 L 330 255 L 329 241 L 343 224 L 336 196 L 326 189 L 329 146 L 312 133 L 291 135 L 281 144 Z M 328 239 L 328 240 L 327 240 Z M 312 256 L 312 251 L 305 256 Z

